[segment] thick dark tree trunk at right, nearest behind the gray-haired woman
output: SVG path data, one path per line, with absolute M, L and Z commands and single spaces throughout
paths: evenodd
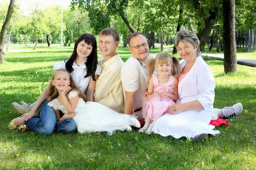
M 236 73 L 235 0 L 222 0 L 224 71 Z

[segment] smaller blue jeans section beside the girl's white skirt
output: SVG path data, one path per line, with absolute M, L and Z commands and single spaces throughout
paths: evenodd
M 74 119 L 64 119 L 57 121 L 55 132 L 71 133 L 77 130 L 76 122 Z

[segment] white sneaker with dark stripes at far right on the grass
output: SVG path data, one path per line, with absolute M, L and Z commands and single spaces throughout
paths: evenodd
M 241 103 L 236 103 L 233 106 L 225 107 L 225 108 L 221 109 L 221 111 L 222 111 L 222 114 L 224 117 L 231 118 L 231 117 L 237 116 L 240 113 L 242 113 L 243 105 Z

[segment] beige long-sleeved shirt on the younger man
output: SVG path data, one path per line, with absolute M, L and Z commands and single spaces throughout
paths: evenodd
M 94 101 L 111 108 L 120 113 L 123 105 L 122 83 L 120 71 L 124 62 L 116 54 L 114 57 L 104 62 L 99 59 L 102 73 L 97 79 Z

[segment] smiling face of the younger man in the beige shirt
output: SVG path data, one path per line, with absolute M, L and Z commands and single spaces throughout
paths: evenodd
M 118 45 L 119 41 L 115 41 L 113 36 L 99 36 L 99 52 L 103 57 L 115 56 Z

